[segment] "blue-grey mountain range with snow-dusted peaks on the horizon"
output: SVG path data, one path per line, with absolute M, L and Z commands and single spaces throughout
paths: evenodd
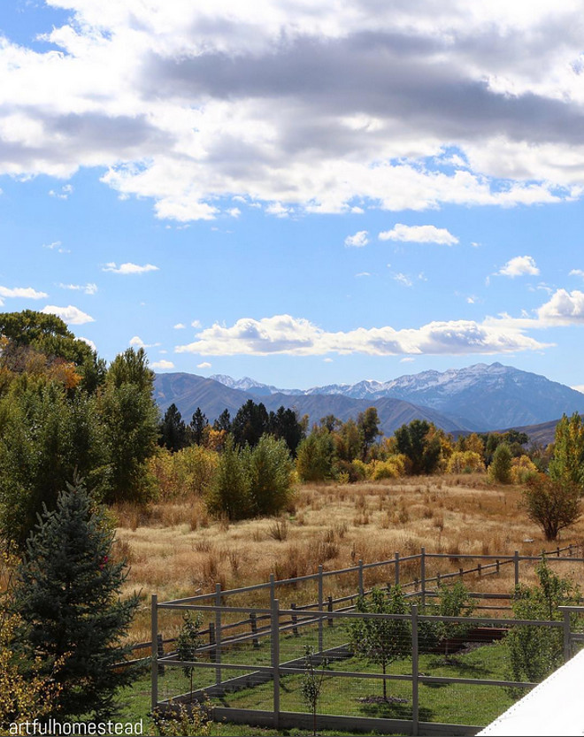
M 162 373 L 155 378 L 155 398 L 162 411 L 176 404 L 184 418 L 200 407 L 211 422 L 226 408 L 233 417 L 249 399 L 263 402 L 268 411 L 293 407 L 301 417 L 308 414 L 311 423 L 328 414 L 343 421 L 356 418 L 375 406 L 386 435 L 414 418 L 460 434 L 544 423 L 553 427 L 552 421 L 564 413 L 584 412 L 584 394 L 499 363 L 304 390 L 277 388 L 249 377 Z

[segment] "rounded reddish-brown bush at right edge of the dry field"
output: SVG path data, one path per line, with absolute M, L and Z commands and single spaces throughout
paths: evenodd
M 556 540 L 581 514 L 580 487 L 571 480 L 554 480 L 545 473 L 532 475 L 523 492 L 527 517 L 542 528 L 546 540 Z

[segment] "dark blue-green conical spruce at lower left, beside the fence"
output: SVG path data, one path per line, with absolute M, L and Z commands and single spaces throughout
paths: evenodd
M 134 678 L 111 668 L 127 655 L 120 640 L 138 605 L 138 595 L 119 598 L 127 564 L 112 560 L 113 538 L 104 508 L 75 480 L 39 518 L 18 568 L 22 658 L 40 659 L 41 675 L 60 661 L 55 718 L 111 718 L 116 691 Z

